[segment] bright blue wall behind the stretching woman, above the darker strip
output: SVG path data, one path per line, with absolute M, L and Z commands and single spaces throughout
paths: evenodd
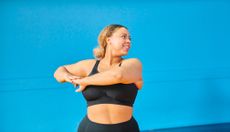
M 230 122 L 230 2 L 1 1 L 0 131 L 70 132 L 86 102 L 54 70 L 93 58 L 100 30 L 127 26 L 143 62 L 141 130 Z

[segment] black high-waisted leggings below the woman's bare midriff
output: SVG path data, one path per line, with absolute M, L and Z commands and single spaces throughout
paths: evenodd
M 117 124 L 100 124 L 92 122 L 86 115 L 79 124 L 78 132 L 140 132 L 140 130 L 134 117 Z

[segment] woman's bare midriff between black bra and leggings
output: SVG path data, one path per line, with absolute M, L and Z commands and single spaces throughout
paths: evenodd
M 119 104 L 97 104 L 87 108 L 90 121 L 98 124 L 117 124 L 132 118 L 133 108 Z

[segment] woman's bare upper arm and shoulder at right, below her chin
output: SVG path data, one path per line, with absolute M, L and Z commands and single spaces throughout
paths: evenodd
M 142 63 L 139 59 L 125 60 L 120 67 L 121 83 L 129 84 L 142 81 Z

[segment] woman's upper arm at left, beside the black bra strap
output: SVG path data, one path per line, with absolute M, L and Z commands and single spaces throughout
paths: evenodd
M 78 61 L 74 64 L 64 65 L 66 70 L 75 76 L 86 77 L 88 74 L 88 67 L 91 66 L 93 59 Z

